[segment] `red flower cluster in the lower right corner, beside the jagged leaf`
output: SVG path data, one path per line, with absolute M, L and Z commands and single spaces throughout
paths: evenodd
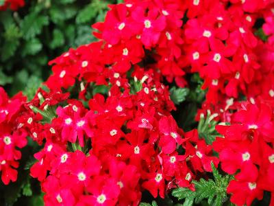
M 223 137 L 217 137 L 214 150 L 219 152 L 221 168 L 235 174 L 227 187 L 236 205 L 251 205 L 262 199 L 264 190 L 271 192 L 273 205 L 273 103 L 242 104 L 230 126 L 217 126 Z

